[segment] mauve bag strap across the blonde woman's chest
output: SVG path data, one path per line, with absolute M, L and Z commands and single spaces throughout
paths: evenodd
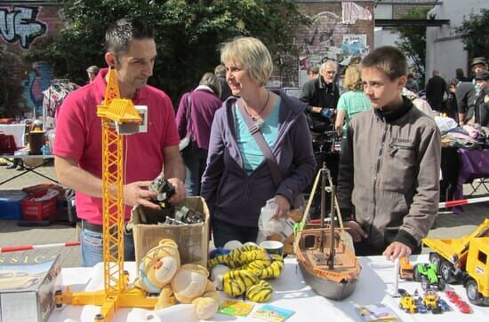
M 241 115 L 243 115 L 244 122 L 246 122 L 250 134 L 253 136 L 258 146 L 260 146 L 261 153 L 263 153 L 265 160 L 267 160 L 267 163 L 269 164 L 273 181 L 275 185 L 278 187 L 282 182 L 282 173 L 280 171 L 280 168 L 278 168 L 278 163 L 277 160 L 275 159 L 275 155 L 273 155 L 270 146 L 265 141 L 265 137 L 263 137 L 263 134 L 261 134 L 261 131 L 258 128 L 258 126 L 256 126 L 256 124 L 253 122 L 252 117 L 249 114 L 247 114 L 246 111 L 244 110 L 244 104 L 242 98 L 238 98 L 236 100 L 236 105 Z

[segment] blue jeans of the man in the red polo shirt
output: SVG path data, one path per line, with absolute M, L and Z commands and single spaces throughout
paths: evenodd
M 92 267 L 96 263 L 103 262 L 102 233 L 89 231 L 82 227 L 80 236 L 82 245 L 82 266 Z M 134 239 L 132 233 L 124 232 L 124 261 L 135 261 Z

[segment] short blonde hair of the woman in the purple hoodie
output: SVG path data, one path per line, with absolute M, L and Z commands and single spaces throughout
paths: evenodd
M 272 75 L 273 62 L 269 50 L 261 41 L 253 37 L 236 37 L 220 48 L 222 64 L 243 64 L 253 81 L 264 86 Z

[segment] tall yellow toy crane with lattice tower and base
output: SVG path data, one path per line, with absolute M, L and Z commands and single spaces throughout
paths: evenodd
M 124 271 L 124 164 L 122 134 L 132 134 L 142 121 L 130 99 L 120 98 L 116 71 L 108 70 L 104 104 L 97 106 L 102 121 L 102 202 L 104 289 L 96 292 L 56 292 L 56 305 L 98 305 L 94 321 L 108 321 L 119 307 L 153 309 L 157 297 L 130 287 Z M 135 126 L 136 125 L 136 126 Z

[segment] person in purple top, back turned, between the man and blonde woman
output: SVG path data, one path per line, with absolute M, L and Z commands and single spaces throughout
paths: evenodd
M 212 120 L 217 109 L 222 106 L 219 97 L 219 80 L 212 73 L 205 73 L 196 89 L 184 94 L 180 99 L 176 119 L 180 139 L 185 137 L 189 130 L 191 133 L 191 143 L 181 151 L 186 168 L 185 189 L 189 196 L 200 195 L 200 179 L 207 160 Z

